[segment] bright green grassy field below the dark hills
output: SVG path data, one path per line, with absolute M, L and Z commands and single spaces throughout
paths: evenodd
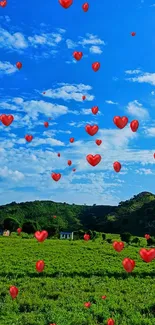
M 139 249 L 117 253 L 101 240 L 1 237 L 0 325 L 97 325 L 108 318 L 116 325 L 155 325 L 155 260 L 143 262 Z M 125 257 L 136 261 L 130 274 L 122 266 Z M 46 264 L 42 273 L 35 269 L 38 260 Z M 19 289 L 14 300 L 11 285 Z M 90 308 L 84 307 L 88 301 Z

